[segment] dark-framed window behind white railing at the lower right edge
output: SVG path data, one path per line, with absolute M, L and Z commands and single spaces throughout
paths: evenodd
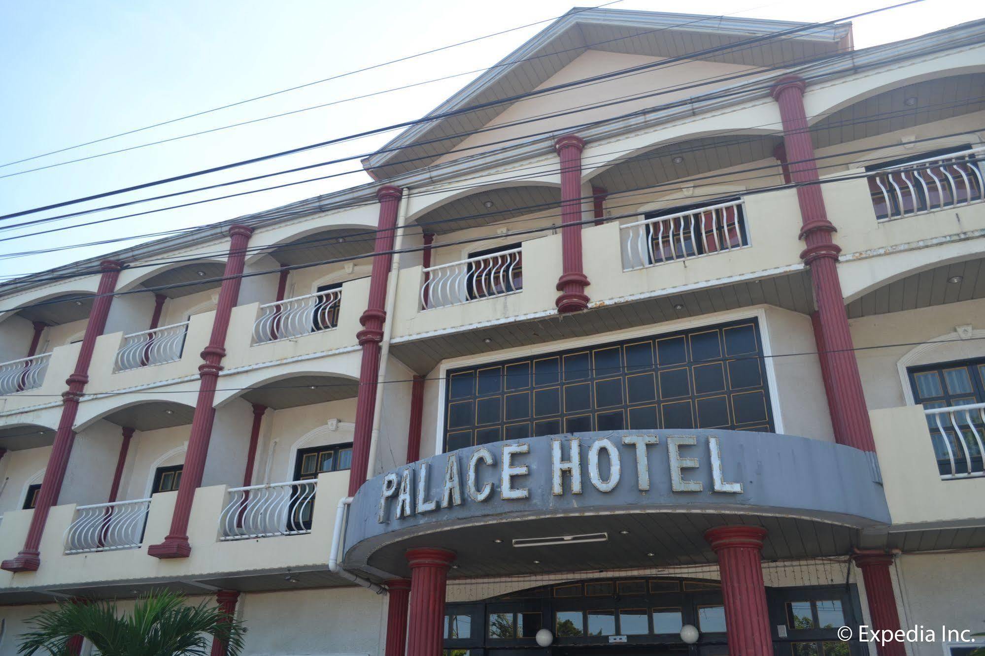
M 910 378 L 910 389 L 913 390 L 913 401 L 923 405 L 925 410 L 985 403 L 985 358 L 911 366 L 907 369 L 907 373 Z M 954 431 L 952 417 L 961 428 L 963 445 Z M 971 458 L 970 469 L 982 471 L 982 454 L 979 452 L 978 440 L 974 435 L 976 430 L 982 434 L 985 427 L 981 413 L 928 415 L 927 426 L 933 438 L 938 470 L 942 475 L 954 473 L 952 457 L 953 468 L 956 471 L 968 471 L 969 463 L 964 455 L 965 446 L 968 457 Z

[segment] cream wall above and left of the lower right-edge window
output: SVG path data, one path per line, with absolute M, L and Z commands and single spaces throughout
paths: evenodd
M 985 328 L 983 319 L 985 299 L 850 320 L 852 340 L 859 349 L 855 355 L 869 408 L 895 408 L 906 404 L 897 362 L 918 343 L 946 337 L 954 332 L 955 326 L 972 324 L 976 328 Z M 911 365 L 982 356 L 985 356 L 985 340 L 952 340 L 925 350 Z

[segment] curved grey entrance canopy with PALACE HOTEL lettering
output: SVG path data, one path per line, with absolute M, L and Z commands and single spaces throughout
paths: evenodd
M 704 532 L 768 530 L 763 558 L 845 555 L 889 523 L 874 454 L 741 430 L 614 430 L 494 442 L 367 482 L 344 566 L 406 575 L 415 547 L 453 576 L 714 561 Z M 577 567 L 574 565 L 577 564 Z

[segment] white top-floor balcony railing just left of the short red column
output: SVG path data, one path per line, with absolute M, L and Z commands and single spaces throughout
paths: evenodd
M 523 290 L 522 248 L 470 257 L 424 270 L 421 306 L 425 309 L 467 303 Z

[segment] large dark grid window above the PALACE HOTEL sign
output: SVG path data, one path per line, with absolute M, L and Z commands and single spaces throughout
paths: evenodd
M 773 430 L 755 319 L 454 369 L 445 389 L 446 451 L 587 430 Z

